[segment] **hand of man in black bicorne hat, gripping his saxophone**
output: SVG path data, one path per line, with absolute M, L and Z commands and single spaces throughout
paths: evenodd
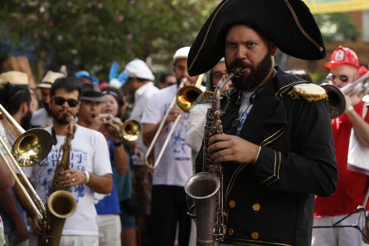
M 209 139 L 209 153 L 214 153 L 215 162 L 236 161 L 253 163 L 258 155 L 259 146 L 238 136 L 217 134 Z

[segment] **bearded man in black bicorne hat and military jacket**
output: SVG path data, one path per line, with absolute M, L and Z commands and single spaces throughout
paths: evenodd
M 229 72 L 242 69 L 221 101 L 224 134 L 204 147 L 223 164 L 226 244 L 310 245 L 314 196 L 330 196 L 336 187 L 325 91 L 275 66 L 277 48 L 301 59 L 325 57 L 302 1 L 224 0 L 189 53 L 191 76 L 223 56 Z M 199 154 L 196 171 L 201 163 Z

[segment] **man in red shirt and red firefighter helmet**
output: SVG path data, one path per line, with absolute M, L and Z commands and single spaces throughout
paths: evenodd
M 342 88 L 359 78 L 359 60 L 356 53 L 339 46 L 325 64 L 330 69 L 327 78 Z M 369 115 L 362 117 L 364 101 L 361 96 L 345 95 L 344 114 L 332 119 L 333 137 L 337 158 L 338 183 L 335 193 L 330 197 L 316 197 L 314 226 L 332 226 L 335 222 L 353 212 L 364 201 L 369 178 L 361 173 L 347 169 L 348 144 L 354 129 L 363 146 L 369 148 Z M 369 206 L 366 206 L 368 210 Z M 344 219 L 339 225 L 352 225 L 359 213 Z M 317 228 L 313 230 L 312 245 L 364 245 L 359 230 L 354 228 Z

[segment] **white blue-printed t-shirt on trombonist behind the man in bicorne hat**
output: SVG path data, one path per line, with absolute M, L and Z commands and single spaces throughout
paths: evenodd
M 149 99 L 142 124 L 157 124 L 164 117 L 177 92 L 177 85 L 163 88 Z M 169 144 L 164 151 L 153 176 L 153 185 L 168 185 L 184 187 L 187 179 L 192 175 L 191 148 L 185 143 L 188 131 L 188 113 L 184 113 L 174 131 Z M 163 132 L 155 144 L 155 159 L 161 146 L 172 127 L 163 129 Z

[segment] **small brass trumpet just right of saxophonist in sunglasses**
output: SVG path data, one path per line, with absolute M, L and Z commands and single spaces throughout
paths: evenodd
M 113 114 L 99 114 L 99 118 L 103 121 L 110 121 L 109 125 L 111 128 L 104 127 L 104 130 L 116 138 L 124 138 L 126 141 L 135 141 L 141 134 L 141 124 L 135 119 L 127 119 L 122 123 L 120 120 L 117 120 Z

